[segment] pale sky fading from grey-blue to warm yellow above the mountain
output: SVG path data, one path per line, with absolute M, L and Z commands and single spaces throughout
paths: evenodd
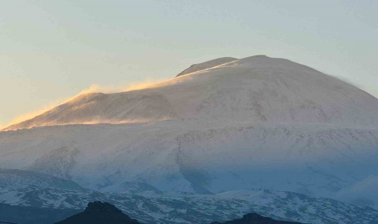
M 286 58 L 378 97 L 377 0 L 1 0 L 0 125 L 96 84 L 116 91 L 191 64 Z

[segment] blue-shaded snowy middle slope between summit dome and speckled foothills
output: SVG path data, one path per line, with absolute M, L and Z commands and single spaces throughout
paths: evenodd
M 378 175 L 378 129 L 371 127 L 198 120 L 77 124 L 0 132 L 0 148 L 0 168 L 67 177 L 101 191 L 143 183 L 166 191 L 266 188 L 335 198 Z M 375 207 L 376 193 L 351 200 Z

